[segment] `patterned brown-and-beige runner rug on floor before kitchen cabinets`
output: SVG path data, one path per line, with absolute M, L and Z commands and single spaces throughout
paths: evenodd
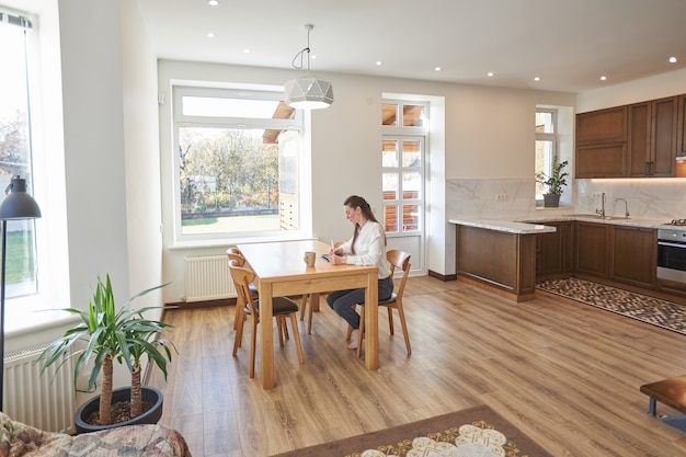
M 617 315 L 686 334 L 686 306 L 569 277 L 541 281 L 537 288 Z

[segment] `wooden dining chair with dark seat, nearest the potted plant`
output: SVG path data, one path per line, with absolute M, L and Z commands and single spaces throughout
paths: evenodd
M 255 346 L 258 339 L 258 324 L 260 323 L 260 301 L 255 299 L 250 293 L 250 284 L 254 279 L 254 273 L 244 266 L 239 266 L 239 262 L 232 260 L 229 262 L 229 270 L 231 271 L 231 278 L 236 286 L 236 292 L 244 305 L 243 313 L 245 317 L 252 318 L 251 320 L 251 333 L 250 333 L 250 377 L 255 375 Z M 298 362 L 300 365 L 305 363 L 302 357 L 302 346 L 300 345 L 300 333 L 298 332 L 298 321 L 296 315 L 298 313 L 298 304 L 286 297 L 272 298 L 272 312 L 276 320 L 276 327 L 278 329 L 278 343 L 284 345 L 282 336 L 282 327 L 286 325 L 286 318 L 290 319 L 290 325 L 293 328 L 293 340 L 296 343 L 296 350 L 298 352 Z M 243 324 L 244 320 L 237 320 L 236 336 L 233 340 L 233 356 L 236 357 L 240 342 L 243 339 Z M 270 324 L 268 322 L 264 323 Z

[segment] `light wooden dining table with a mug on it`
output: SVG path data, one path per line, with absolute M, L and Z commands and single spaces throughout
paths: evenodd
M 262 388 L 274 387 L 274 335 L 272 298 L 365 288 L 365 366 L 379 366 L 378 272 L 374 265 L 333 265 L 322 258 L 330 245 L 318 240 L 238 244 L 255 273 L 260 294 L 260 376 Z M 315 266 L 307 266 L 306 251 L 317 252 Z M 318 302 L 317 302 L 318 305 Z M 315 306 L 315 304 L 312 305 Z M 341 321 L 343 322 L 343 321 Z M 343 346 L 342 346 L 343 347 Z

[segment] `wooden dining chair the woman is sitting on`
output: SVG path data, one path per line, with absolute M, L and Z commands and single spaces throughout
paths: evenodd
M 388 327 L 390 330 L 390 334 L 395 334 L 393 327 L 393 309 L 398 310 L 398 317 L 400 318 L 400 325 L 402 327 L 402 334 L 405 339 L 405 347 L 408 350 L 408 355 L 412 354 L 412 347 L 410 346 L 410 335 L 408 333 L 408 324 L 405 322 L 405 313 L 402 309 L 402 294 L 405 289 L 405 283 L 408 282 L 408 276 L 410 275 L 410 254 L 398 250 L 392 249 L 386 253 L 386 259 L 390 263 L 390 276 L 393 277 L 396 270 L 402 270 L 402 279 L 400 279 L 400 285 L 393 293 L 391 294 L 388 300 L 379 300 L 379 308 L 385 307 L 388 309 Z M 365 333 L 365 309 L 364 306 L 359 306 L 359 332 L 357 332 L 357 357 L 362 356 L 362 338 Z M 353 332 L 353 328 L 347 325 L 347 340 L 351 339 L 351 334 Z

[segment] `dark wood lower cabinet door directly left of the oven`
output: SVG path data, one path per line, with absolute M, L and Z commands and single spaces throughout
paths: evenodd
M 613 226 L 610 279 L 654 288 L 658 263 L 658 231 Z

